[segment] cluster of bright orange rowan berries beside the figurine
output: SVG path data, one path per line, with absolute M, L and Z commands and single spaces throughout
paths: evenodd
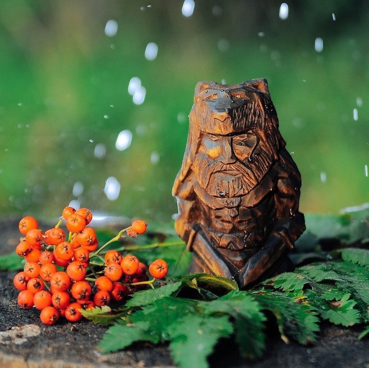
M 134 291 L 150 285 L 156 279 L 166 277 L 168 265 L 157 259 L 147 267 L 134 255 L 122 255 L 116 250 L 104 254 L 104 264 L 90 261 L 103 258 L 102 251 L 113 241 L 127 235 L 136 237 L 146 231 L 143 220 L 133 221 L 117 236 L 98 249 L 96 232 L 88 224 L 92 213 L 86 208 L 75 210 L 66 207 L 56 226 L 43 232 L 32 216 L 19 221 L 23 235 L 15 252 L 25 257 L 24 271 L 14 277 L 14 286 L 19 290 L 18 304 L 29 309 L 40 310 L 40 319 L 45 324 L 54 324 L 60 317 L 78 321 L 82 309 L 121 301 Z M 68 238 L 61 224 L 69 231 Z

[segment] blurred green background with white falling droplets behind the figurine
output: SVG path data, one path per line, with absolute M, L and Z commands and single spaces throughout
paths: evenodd
M 367 1 L 2 0 L 0 213 L 169 221 L 197 81 L 258 77 L 301 211 L 368 202 L 368 34 Z

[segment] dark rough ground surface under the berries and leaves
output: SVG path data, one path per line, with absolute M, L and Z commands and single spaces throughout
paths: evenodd
M 19 236 L 13 221 L 0 223 L 0 254 L 11 251 Z M 39 313 L 19 309 L 13 287 L 14 272 L 0 272 L 0 367 L 7 368 L 95 368 L 95 367 L 169 367 L 173 360 L 167 345 L 135 344 L 128 350 L 103 355 L 97 343 L 105 327 L 89 321 L 61 322 L 45 326 Z M 316 345 L 284 343 L 271 332 L 262 359 L 249 361 L 239 357 L 232 341 L 220 341 L 210 357 L 217 367 L 363 367 L 369 368 L 369 338 L 359 341 L 362 326 L 340 328 L 323 325 Z M 193 367 L 196 368 L 196 367 Z

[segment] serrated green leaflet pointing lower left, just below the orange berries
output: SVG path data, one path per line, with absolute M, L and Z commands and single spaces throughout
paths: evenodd
M 135 341 L 148 340 L 146 331 L 150 328 L 150 321 L 139 321 L 134 325 L 115 324 L 105 333 L 98 344 L 103 353 L 115 352 L 131 345 Z M 156 340 L 153 341 L 157 342 Z

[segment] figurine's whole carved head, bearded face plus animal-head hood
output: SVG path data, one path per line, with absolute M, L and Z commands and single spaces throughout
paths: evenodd
M 245 195 L 268 173 L 283 146 L 266 80 L 234 86 L 200 82 L 173 193 L 191 177 L 212 196 Z

